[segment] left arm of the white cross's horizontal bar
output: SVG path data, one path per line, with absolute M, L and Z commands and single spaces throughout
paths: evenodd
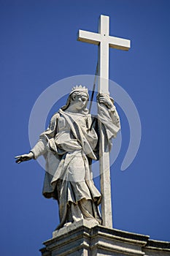
M 89 42 L 93 45 L 99 45 L 100 43 L 100 34 L 85 31 L 85 30 L 79 30 L 77 33 L 77 41 L 81 42 Z

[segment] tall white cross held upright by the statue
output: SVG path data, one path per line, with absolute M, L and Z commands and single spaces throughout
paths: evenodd
M 109 48 L 129 50 L 131 41 L 109 36 L 109 16 L 101 15 L 98 33 L 79 30 L 78 41 L 98 45 L 98 92 L 109 94 Z M 109 151 L 104 148 L 104 134 L 100 131 L 100 174 L 102 224 L 112 228 L 112 203 L 110 186 Z

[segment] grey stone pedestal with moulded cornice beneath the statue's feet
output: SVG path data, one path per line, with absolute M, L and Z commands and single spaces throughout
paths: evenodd
M 53 238 L 43 243 L 40 252 L 42 256 L 170 256 L 169 242 L 149 238 L 81 220 L 53 232 Z

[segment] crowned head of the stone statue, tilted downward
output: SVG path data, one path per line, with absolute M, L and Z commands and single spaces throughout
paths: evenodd
M 88 109 L 86 107 L 88 104 L 88 99 L 88 89 L 85 88 L 85 86 L 74 86 L 69 94 L 66 105 L 62 107 L 62 110 L 66 110 L 72 107 L 74 110 L 87 113 Z

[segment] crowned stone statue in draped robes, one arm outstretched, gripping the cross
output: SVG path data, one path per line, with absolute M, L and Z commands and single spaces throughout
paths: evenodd
M 93 183 L 91 170 L 92 160 L 99 158 L 98 122 L 110 149 L 112 138 L 120 130 L 120 118 L 109 95 L 98 94 L 98 118 L 88 113 L 88 99 L 85 86 L 74 86 L 66 105 L 53 115 L 34 148 L 15 157 L 17 163 L 45 157 L 43 195 L 58 200 L 60 225 L 56 229 L 80 219 L 101 224 L 101 193 Z

